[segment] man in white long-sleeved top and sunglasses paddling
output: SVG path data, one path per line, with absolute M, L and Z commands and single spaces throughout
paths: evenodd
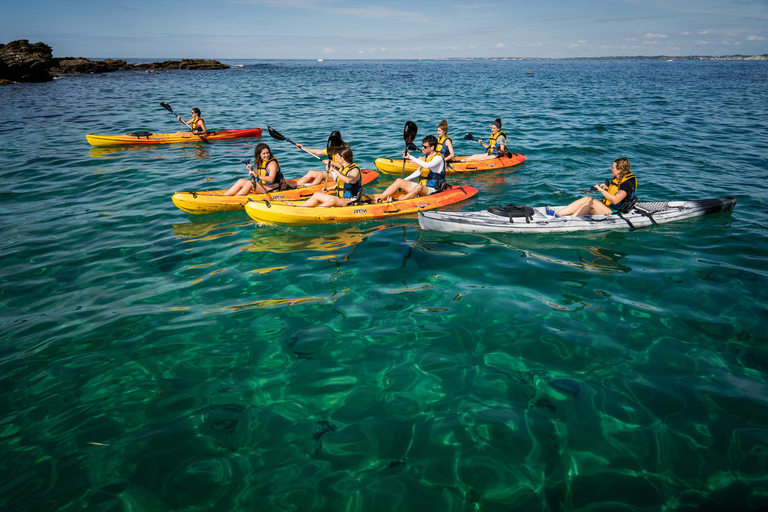
M 407 158 L 419 168 L 405 179 L 396 179 L 384 192 L 379 194 L 376 198 L 377 203 L 391 200 L 392 194 L 398 190 L 405 192 L 400 200 L 426 196 L 442 190 L 445 185 L 445 157 L 437 152 L 437 137 L 434 135 L 424 137 L 421 142 L 421 151 L 424 153 L 423 159 L 414 157 L 408 153 L 407 149 L 403 151 L 403 158 Z M 419 178 L 419 182 L 412 182 L 411 180 L 416 177 Z

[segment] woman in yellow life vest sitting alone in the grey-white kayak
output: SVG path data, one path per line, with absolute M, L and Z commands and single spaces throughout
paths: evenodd
M 571 215 L 610 215 L 613 212 L 625 212 L 631 207 L 637 190 L 637 178 L 630 171 L 631 165 L 626 158 L 617 158 L 611 166 L 611 180 L 592 187 L 592 190 L 600 192 L 603 199 L 598 200 L 589 196 L 577 199 L 568 206 L 555 211 L 547 206 L 547 215 L 563 217 Z

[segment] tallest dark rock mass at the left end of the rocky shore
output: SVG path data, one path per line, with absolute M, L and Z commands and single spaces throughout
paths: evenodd
M 27 39 L 0 44 L 0 79 L 14 82 L 49 82 L 53 52 L 45 43 Z

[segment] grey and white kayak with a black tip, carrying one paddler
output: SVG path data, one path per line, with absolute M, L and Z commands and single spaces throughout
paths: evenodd
M 584 215 L 581 217 L 554 217 L 547 215 L 545 207 L 529 208 L 530 218 L 511 217 L 490 208 L 475 212 L 419 212 L 421 229 L 447 233 L 564 233 L 607 229 L 632 229 L 687 219 L 710 213 L 729 212 L 736 206 L 732 196 L 697 201 L 638 202 L 629 213 L 621 216 Z M 555 207 L 555 210 L 562 208 Z M 530 221 L 530 222 L 529 222 Z

